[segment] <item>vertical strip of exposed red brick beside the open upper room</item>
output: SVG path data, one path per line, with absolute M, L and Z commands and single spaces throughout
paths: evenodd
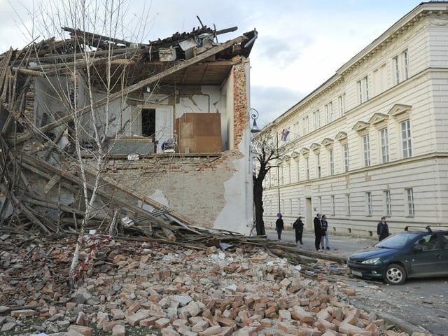
M 248 59 L 235 56 L 232 58 L 233 66 L 233 100 L 234 100 L 234 149 L 238 148 L 243 138 L 244 130 L 249 126 L 248 120 L 248 97 L 246 87 L 246 63 Z

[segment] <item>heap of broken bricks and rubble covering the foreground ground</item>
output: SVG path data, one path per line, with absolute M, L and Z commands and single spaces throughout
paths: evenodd
M 92 239 L 71 290 L 75 239 L 1 237 L 0 335 L 407 335 L 354 307 L 345 266 L 337 280 L 332 261 L 303 272 L 250 244 Z

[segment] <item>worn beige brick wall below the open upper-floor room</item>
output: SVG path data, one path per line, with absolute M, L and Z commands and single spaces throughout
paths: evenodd
M 233 161 L 240 157 L 239 153 L 228 151 L 217 158 L 173 155 L 136 162 L 117 160 L 109 162 L 106 174 L 135 193 L 151 197 L 198 225 L 211 228 L 225 207 L 224 184 L 235 174 Z M 160 195 L 169 204 L 161 202 Z

